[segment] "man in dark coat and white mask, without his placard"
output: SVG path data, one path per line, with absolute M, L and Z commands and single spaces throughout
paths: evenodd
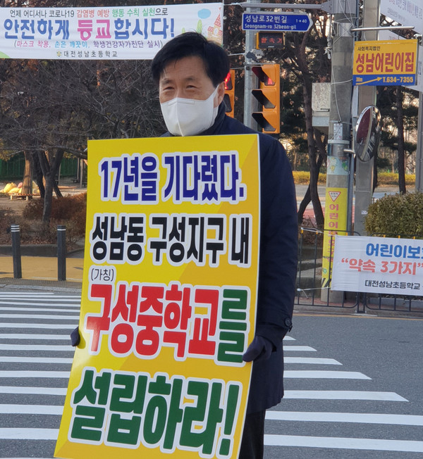
M 221 46 L 195 32 L 179 35 L 159 51 L 152 75 L 159 85 L 165 136 L 257 134 L 226 116 L 228 71 Z M 256 334 L 243 356 L 253 367 L 241 459 L 263 457 L 264 415 L 283 397 L 282 340 L 292 327 L 297 272 L 297 210 L 288 158 L 280 142 L 266 134 L 259 134 L 259 155 L 259 286 Z

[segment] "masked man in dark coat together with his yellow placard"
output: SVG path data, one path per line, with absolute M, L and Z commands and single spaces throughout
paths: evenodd
M 226 116 L 228 70 L 219 45 L 179 35 L 152 62 L 164 137 L 90 141 L 56 457 L 224 459 L 240 439 L 239 458 L 263 457 L 293 313 L 295 188 L 281 144 Z

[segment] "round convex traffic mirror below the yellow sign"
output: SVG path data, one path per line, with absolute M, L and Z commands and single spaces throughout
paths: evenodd
M 370 161 L 381 139 L 381 112 L 371 105 L 362 111 L 355 125 L 354 151 L 361 161 Z

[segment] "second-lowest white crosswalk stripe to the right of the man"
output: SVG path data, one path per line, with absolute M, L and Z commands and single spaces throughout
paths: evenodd
M 266 419 L 301 422 L 359 422 L 360 424 L 423 425 L 423 416 L 374 413 L 313 413 L 267 411 Z

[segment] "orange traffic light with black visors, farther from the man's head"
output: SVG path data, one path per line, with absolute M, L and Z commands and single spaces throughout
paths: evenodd
M 252 113 L 262 132 L 278 134 L 281 132 L 280 80 L 279 64 L 264 64 L 252 67 L 259 79 L 259 89 L 252 89 L 252 95 L 262 105 L 262 111 Z

